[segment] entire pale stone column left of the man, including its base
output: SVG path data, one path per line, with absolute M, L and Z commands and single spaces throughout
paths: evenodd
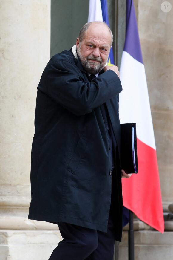
M 27 216 L 37 85 L 50 58 L 50 0 L 2 0 L 0 12 L 0 258 L 44 260 L 61 239 L 57 226 Z

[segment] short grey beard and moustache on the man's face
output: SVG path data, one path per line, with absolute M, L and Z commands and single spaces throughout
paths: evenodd
M 81 47 L 80 47 L 80 45 L 78 47 L 77 53 L 78 53 L 79 59 L 81 61 L 82 67 L 89 74 L 97 74 L 97 73 L 99 73 L 103 69 L 103 67 L 106 65 L 106 62 L 108 60 L 107 59 L 105 62 L 103 62 L 101 57 L 95 57 L 92 54 L 90 54 L 86 58 L 84 58 L 82 56 L 82 54 L 81 54 Z M 89 59 L 96 60 L 99 63 L 92 62 Z

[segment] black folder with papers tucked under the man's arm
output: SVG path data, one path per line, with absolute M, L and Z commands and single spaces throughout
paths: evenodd
M 121 169 L 138 173 L 136 123 L 121 124 Z

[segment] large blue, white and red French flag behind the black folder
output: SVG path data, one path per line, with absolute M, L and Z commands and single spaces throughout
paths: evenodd
M 119 115 L 120 123 L 136 123 L 138 174 L 122 179 L 123 205 L 140 220 L 163 233 L 163 207 L 145 68 L 133 0 L 127 0 L 126 4 Z

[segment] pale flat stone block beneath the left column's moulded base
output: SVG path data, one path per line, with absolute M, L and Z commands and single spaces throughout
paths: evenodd
M 61 241 L 58 231 L 0 230 L 1 260 L 47 260 Z

